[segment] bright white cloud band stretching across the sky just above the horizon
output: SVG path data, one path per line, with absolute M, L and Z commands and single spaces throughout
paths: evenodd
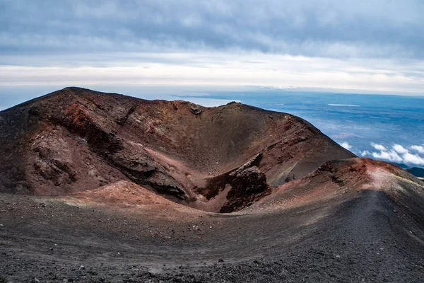
M 420 93 L 424 88 L 423 80 L 411 80 L 404 75 L 412 67 L 372 59 L 345 62 L 284 54 L 201 50 L 161 54 L 119 53 L 109 57 L 90 54 L 92 62 L 88 62 L 84 54 L 59 59 L 43 58 L 42 62 L 48 66 L 40 66 L 38 57 L 0 55 L 3 63 L 0 66 L 0 85 L 295 86 L 360 93 Z M 361 86 L 360 89 L 358 86 Z

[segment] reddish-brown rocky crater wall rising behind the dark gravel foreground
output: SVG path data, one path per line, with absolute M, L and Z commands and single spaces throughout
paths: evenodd
M 126 180 L 216 212 L 354 157 L 293 115 L 83 88 L 1 111 L 0 155 L 0 192 L 65 195 Z

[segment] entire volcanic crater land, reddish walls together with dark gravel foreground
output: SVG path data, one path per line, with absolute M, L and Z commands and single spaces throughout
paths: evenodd
M 424 184 L 300 118 L 81 88 L 0 117 L 0 282 L 423 281 Z

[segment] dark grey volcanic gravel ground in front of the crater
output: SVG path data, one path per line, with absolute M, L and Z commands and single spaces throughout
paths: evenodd
M 375 190 L 174 218 L 9 194 L 0 207 L 0 282 L 424 282 L 422 223 Z

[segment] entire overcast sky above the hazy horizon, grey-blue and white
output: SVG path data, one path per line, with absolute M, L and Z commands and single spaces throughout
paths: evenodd
M 423 29 L 422 0 L 0 0 L 0 86 L 423 95 Z

